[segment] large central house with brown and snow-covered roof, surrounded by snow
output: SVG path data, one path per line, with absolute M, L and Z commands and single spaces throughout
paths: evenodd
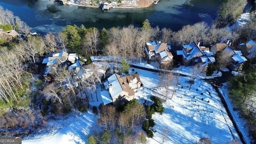
M 140 88 L 139 74 L 120 76 L 113 74 L 104 82 L 105 89 L 100 92 L 104 104 L 114 102 L 119 96 L 132 100 L 134 98 L 134 89 Z

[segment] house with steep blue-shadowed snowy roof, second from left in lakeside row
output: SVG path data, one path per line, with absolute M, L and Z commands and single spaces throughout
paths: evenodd
M 213 52 L 210 52 L 209 48 L 200 46 L 200 42 L 198 44 L 191 42 L 188 45 L 183 45 L 182 50 L 177 50 L 177 55 L 182 56 L 182 62 L 185 66 L 198 62 L 201 62 L 202 66 L 206 66 L 209 63 L 215 62 Z

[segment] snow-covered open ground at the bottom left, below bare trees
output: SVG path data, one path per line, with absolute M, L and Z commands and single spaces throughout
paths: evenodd
M 73 118 L 66 126 L 48 138 L 24 140 L 22 144 L 86 144 L 90 132 L 97 128 L 97 117 L 92 112 Z

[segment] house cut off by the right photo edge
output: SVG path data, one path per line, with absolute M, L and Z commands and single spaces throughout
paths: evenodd
M 240 49 L 242 51 L 242 54 L 248 58 L 254 58 L 256 56 L 256 41 L 250 40 L 246 44 L 242 43 L 240 44 Z

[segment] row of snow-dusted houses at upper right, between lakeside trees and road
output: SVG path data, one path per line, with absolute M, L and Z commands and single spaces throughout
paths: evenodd
M 177 56 L 182 58 L 182 63 L 185 66 L 192 66 L 198 62 L 202 66 L 214 63 L 217 52 L 224 52 L 230 57 L 228 64 L 230 70 L 240 70 L 246 60 L 256 56 L 256 41 L 250 40 L 246 44 L 231 46 L 230 40 L 223 40 L 209 48 L 203 46 L 200 42 L 191 42 L 188 45 L 183 45 L 182 50 L 176 50 Z M 173 58 L 171 46 L 156 40 L 146 43 L 145 54 L 148 62 L 154 61 L 159 64 L 172 62 Z

